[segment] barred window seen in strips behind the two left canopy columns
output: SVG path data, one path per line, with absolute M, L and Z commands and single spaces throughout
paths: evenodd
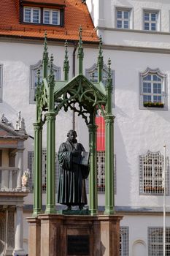
M 29 188 L 31 191 L 34 189 L 34 151 L 28 151 L 28 169 L 30 170 Z M 55 185 L 58 184 L 59 178 L 59 163 L 57 154 L 55 155 Z M 47 151 L 42 150 L 42 191 L 46 191 L 47 184 Z M 56 187 L 57 189 L 57 187 Z

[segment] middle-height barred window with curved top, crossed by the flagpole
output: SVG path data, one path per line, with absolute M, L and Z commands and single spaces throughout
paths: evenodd
M 140 195 L 163 195 L 163 155 L 150 151 L 139 156 Z M 166 157 L 166 195 L 169 195 L 169 157 Z

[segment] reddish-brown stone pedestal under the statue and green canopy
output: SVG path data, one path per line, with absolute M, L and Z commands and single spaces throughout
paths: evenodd
M 119 256 L 122 218 L 117 215 L 58 214 L 39 214 L 37 218 L 28 218 L 28 255 Z

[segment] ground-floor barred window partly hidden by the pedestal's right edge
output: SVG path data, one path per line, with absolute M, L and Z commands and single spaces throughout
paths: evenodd
M 129 255 L 129 228 L 120 227 L 120 256 Z

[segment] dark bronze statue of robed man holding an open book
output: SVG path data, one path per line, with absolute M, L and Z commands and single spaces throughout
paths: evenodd
M 69 130 L 68 139 L 62 143 L 58 151 L 60 176 L 58 183 L 58 203 L 66 205 L 69 210 L 72 206 L 79 206 L 80 210 L 87 204 L 85 178 L 88 178 L 88 161 L 82 162 L 82 152 L 85 148 L 77 143 L 77 133 Z

